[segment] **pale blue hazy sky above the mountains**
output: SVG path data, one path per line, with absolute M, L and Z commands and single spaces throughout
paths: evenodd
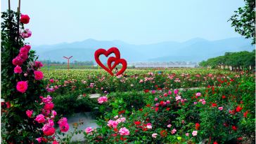
M 1 11 L 8 7 L 1 0 Z M 17 9 L 18 0 L 11 0 Z M 127 43 L 218 40 L 240 36 L 231 22 L 243 0 L 21 0 L 21 12 L 30 15 L 32 45 L 97 40 Z

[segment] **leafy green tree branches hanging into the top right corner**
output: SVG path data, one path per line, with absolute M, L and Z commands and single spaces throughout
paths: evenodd
M 231 27 L 245 38 L 252 38 L 255 45 L 255 0 L 245 0 L 245 6 L 238 8 L 229 19 Z

